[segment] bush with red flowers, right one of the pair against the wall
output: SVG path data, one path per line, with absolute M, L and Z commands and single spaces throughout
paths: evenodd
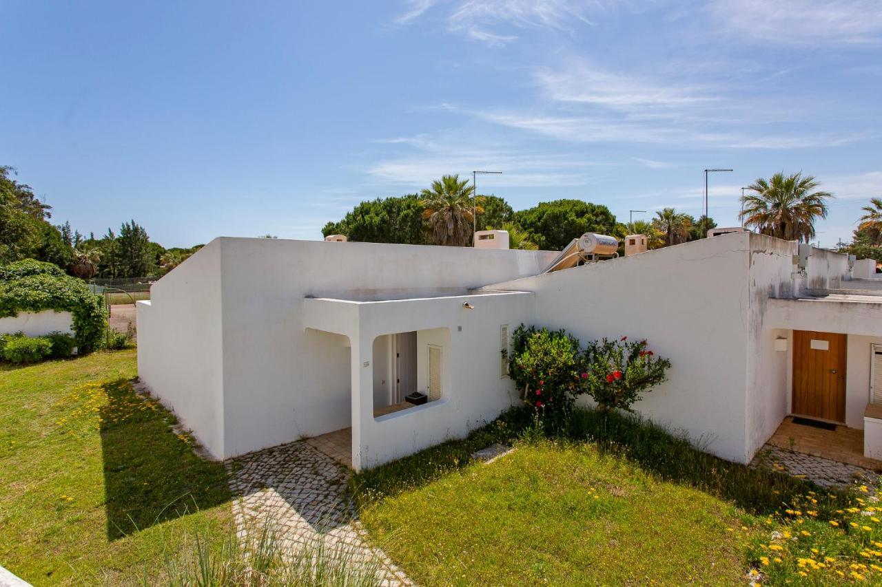
M 580 375 L 587 393 L 601 410 L 622 408 L 631 412 L 641 394 L 665 380 L 670 361 L 656 357 L 646 340 L 595 340 L 585 350 L 585 371 Z

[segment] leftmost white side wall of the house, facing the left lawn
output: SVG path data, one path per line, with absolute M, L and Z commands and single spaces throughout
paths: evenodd
M 138 377 L 213 457 L 226 457 L 220 243 L 169 272 L 136 308 Z

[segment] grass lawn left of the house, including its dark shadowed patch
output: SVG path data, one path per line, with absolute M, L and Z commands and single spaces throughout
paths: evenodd
M 228 536 L 223 465 L 134 393 L 135 353 L 0 367 L 0 564 L 31 583 L 151 581 Z

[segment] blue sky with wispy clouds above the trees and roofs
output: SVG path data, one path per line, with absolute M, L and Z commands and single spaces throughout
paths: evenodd
M 0 164 L 81 232 L 320 238 L 366 198 L 492 169 L 515 209 L 736 225 L 776 171 L 882 197 L 878 0 L 3 2 Z

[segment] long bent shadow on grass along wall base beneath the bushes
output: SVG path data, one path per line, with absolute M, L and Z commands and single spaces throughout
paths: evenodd
M 358 507 L 377 499 L 422 487 L 472 462 L 471 454 L 494 442 L 514 442 L 541 435 L 564 442 L 592 442 L 602 453 L 614 454 L 656 477 L 697 487 L 755 514 L 770 514 L 783 504 L 814 491 L 818 517 L 832 519 L 846 493 L 763 468 L 751 468 L 714 457 L 684 435 L 671 435 L 637 416 L 622 412 L 577 409 L 564 429 L 537 429 L 531 412 L 512 408 L 463 440 L 448 441 L 376 469 L 355 475 L 350 492 Z

